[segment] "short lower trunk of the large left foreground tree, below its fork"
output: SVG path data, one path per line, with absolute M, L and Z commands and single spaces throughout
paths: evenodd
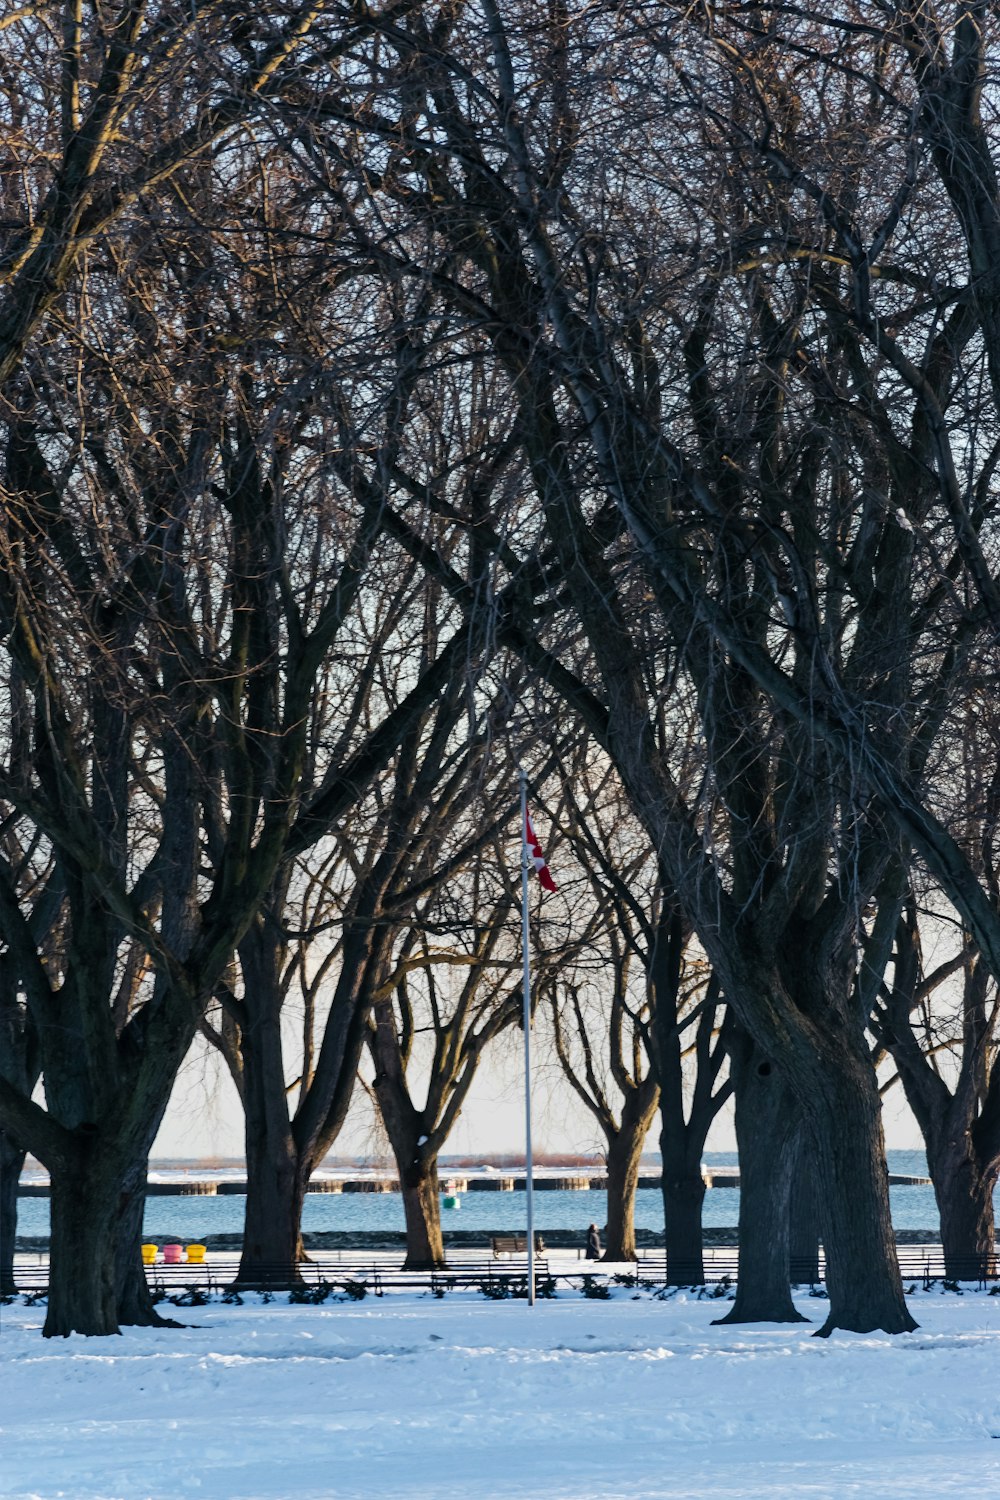
M 115 1230 L 118 1185 L 100 1164 L 51 1173 L 45 1338 L 118 1332 Z

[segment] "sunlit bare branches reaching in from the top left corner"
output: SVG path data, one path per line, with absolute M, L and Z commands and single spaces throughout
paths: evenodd
M 1 392 L 94 246 L 259 117 L 288 80 L 336 72 L 370 34 L 370 15 L 334 4 L 322 18 L 291 6 L 234 20 L 220 3 L 135 0 L 112 16 L 58 0 L 4 18 Z

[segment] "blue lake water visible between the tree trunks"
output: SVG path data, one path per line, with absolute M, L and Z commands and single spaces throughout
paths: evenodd
M 715 1167 L 733 1166 L 736 1158 L 714 1152 L 706 1162 Z M 921 1174 L 927 1172 L 922 1152 L 889 1152 L 889 1170 Z M 937 1206 L 931 1188 L 891 1188 L 892 1222 L 897 1228 L 936 1230 Z M 144 1228 L 160 1244 L 168 1238 L 196 1240 L 204 1234 L 238 1234 L 243 1228 L 244 1197 L 150 1198 L 145 1206 Z M 516 1230 L 525 1222 L 523 1192 L 465 1192 L 460 1209 L 442 1210 L 445 1228 Z M 739 1216 L 738 1188 L 711 1188 L 705 1194 L 705 1224 L 727 1228 Z M 535 1192 L 535 1226 L 543 1233 L 553 1228 L 579 1228 L 606 1220 L 606 1194 Z M 663 1230 L 663 1198 L 658 1191 L 637 1194 L 636 1226 Z M 399 1192 L 312 1192 L 306 1197 L 303 1228 L 312 1230 L 402 1230 L 403 1204 Z M 48 1198 L 21 1198 L 18 1206 L 21 1234 L 48 1234 Z

